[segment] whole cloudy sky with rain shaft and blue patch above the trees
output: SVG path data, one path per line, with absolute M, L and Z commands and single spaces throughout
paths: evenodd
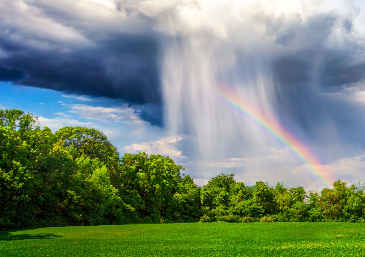
M 364 42 L 360 0 L 3 0 L 0 107 L 168 155 L 198 185 L 320 191 L 365 182 Z

